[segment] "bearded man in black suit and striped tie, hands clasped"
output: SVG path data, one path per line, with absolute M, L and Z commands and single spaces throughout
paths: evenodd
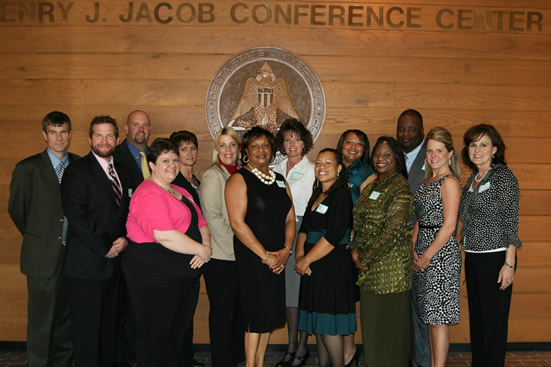
M 113 159 L 116 121 L 95 117 L 89 135 L 91 152 L 67 169 L 61 184 L 69 219 L 64 275 L 75 366 L 111 367 L 120 316 L 118 255 L 128 246 L 129 180 Z

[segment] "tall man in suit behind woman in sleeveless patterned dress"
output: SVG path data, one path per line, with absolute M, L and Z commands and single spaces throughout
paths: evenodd
M 405 110 L 398 117 L 396 140 L 406 155 L 408 181 L 415 194 L 419 182 L 425 177 L 425 155 L 427 151 L 424 140 L 423 117 L 416 110 Z M 415 223 L 415 218 L 413 219 Z M 411 290 L 411 320 L 413 325 L 413 346 L 415 361 L 420 366 L 430 366 L 430 345 L 428 326 L 419 320 L 415 284 Z

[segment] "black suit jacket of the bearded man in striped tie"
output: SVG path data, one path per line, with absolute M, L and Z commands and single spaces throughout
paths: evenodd
M 113 241 L 126 235 L 130 201 L 127 173 L 117 161 L 115 170 L 122 185 L 120 209 L 109 178 L 91 152 L 65 170 L 61 196 L 69 219 L 66 276 L 108 279 L 120 267 L 119 257 L 105 257 Z

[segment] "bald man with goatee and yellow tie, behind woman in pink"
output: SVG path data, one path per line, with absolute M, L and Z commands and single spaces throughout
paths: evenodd
M 126 139 L 117 146 L 113 157 L 117 162 L 124 165 L 130 179 L 130 188 L 134 191 L 150 175 L 147 164 L 147 141 L 151 134 L 151 122 L 147 113 L 141 110 L 130 112 L 126 119 L 124 131 Z M 134 360 L 136 356 L 136 322 L 125 285 L 123 285 L 122 297 L 123 310 L 119 329 L 117 360 L 119 365 L 128 366 L 127 362 Z

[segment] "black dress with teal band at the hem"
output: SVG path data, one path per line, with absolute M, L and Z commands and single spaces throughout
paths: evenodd
M 352 199 L 337 188 L 315 210 L 307 208 L 300 232 L 307 254 L 324 237 L 333 250 L 310 265 L 300 282 L 298 329 L 308 334 L 349 335 L 356 331 L 356 306 L 350 240 Z

